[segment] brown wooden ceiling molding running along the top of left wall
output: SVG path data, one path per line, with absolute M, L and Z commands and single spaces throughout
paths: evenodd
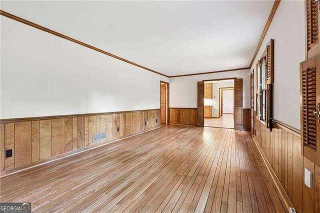
M 99 48 L 97 48 L 97 47 L 91 46 L 91 45 L 89 45 L 89 44 L 87 44 L 87 43 L 84 43 L 84 42 L 82 42 L 82 41 L 76 40 L 76 39 L 74 39 L 74 38 L 71 38 L 71 37 L 66 36 L 66 35 L 64 35 L 64 34 L 61 34 L 61 33 L 59 33 L 59 32 L 53 31 L 53 30 L 48 29 L 48 28 L 46 28 L 46 27 L 44 27 L 44 26 L 41 26 L 41 25 L 39 25 L 39 24 L 36 24 L 36 23 L 31 22 L 31 21 L 25 20 L 25 19 L 23 19 L 23 18 L 21 18 L 21 17 L 18 17 L 18 16 L 16 16 L 16 15 L 13 15 L 13 14 L 11 14 L 11 13 L 9 13 L 9 12 L 5 12 L 5 11 L 3 11 L 3 10 L 0 10 L 0 15 L 3 15 L 3 16 L 5 16 L 5 17 L 11 18 L 11 19 L 13 19 L 13 20 L 19 21 L 19 22 L 21 22 L 21 23 L 24 23 L 24 24 L 29 25 L 29 26 L 32 26 L 32 27 L 34 27 L 34 28 L 40 29 L 40 30 L 42 30 L 42 31 L 48 32 L 48 33 L 50 33 L 50 34 L 56 35 L 56 36 L 58 36 L 58 37 L 64 38 L 64 39 L 66 39 L 66 40 L 72 41 L 72 42 L 74 42 L 74 43 L 80 44 L 80 45 L 85 46 L 85 47 L 87 47 L 87 48 L 90 48 L 90 49 L 93 49 L 93 50 L 95 50 L 95 51 L 98 51 L 98 52 L 100 52 L 100 53 L 102 53 L 102 54 L 109 55 L 109 56 L 114 57 L 114 58 L 116 58 L 116 59 L 119 59 L 119 60 L 122 60 L 122 61 L 124 61 L 124 62 L 130 63 L 130 64 L 132 64 L 132 65 L 134 65 L 134 66 L 140 67 L 140 68 L 142 68 L 142 69 L 145 69 L 145 70 L 154 72 L 154 73 L 156 73 L 156 74 L 163 75 L 163 76 L 165 76 L 165 77 L 168 77 L 168 76 L 165 75 L 165 74 L 162 74 L 162 73 L 160 73 L 160 72 L 154 71 L 154 70 L 152 70 L 152 69 L 150 69 L 150 68 L 147 68 L 147 67 L 145 67 L 145 66 L 139 65 L 139 64 L 137 64 L 137 63 L 134 63 L 134 62 L 129 61 L 129 60 L 127 60 L 127 59 L 124 59 L 124 58 L 122 58 L 122 57 L 116 56 L 116 55 L 111 54 L 111 53 L 109 53 L 109 52 L 107 52 L 107 51 L 104 51 L 104 50 L 99 49 Z

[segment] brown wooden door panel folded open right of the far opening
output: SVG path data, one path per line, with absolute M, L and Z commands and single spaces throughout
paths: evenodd
M 242 78 L 234 79 L 234 129 L 242 130 Z

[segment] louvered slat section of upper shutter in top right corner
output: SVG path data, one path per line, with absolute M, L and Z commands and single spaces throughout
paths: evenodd
M 318 1 L 306 1 L 306 29 L 307 29 L 307 50 L 311 49 L 318 43 Z

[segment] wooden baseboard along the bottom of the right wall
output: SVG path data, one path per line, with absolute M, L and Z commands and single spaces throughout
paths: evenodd
M 275 191 L 276 191 L 276 193 L 278 194 L 278 196 L 279 196 L 279 198 L 281 200 L 282 206 L 287 210 L 287 212 L 289 212 L 289 207 L 294 207 L 294 206 L 293 206 L 289 196 L 285 192 L 283 186 L 281 185 L 280 180 L 275 175 L 275 173 L 274 173 L 274 171 L 272 169 L 272 166 L 270 165 L 269 161 L 267 160 L 267 158 L 266 158 L 262 148 L 260 147 L 258 141 L 255 139 L 255 136 L 253 135 L 252 138 L 253 138 L 254 145 L 257 148 L 258 153 L 262 158 L 262 162 L 265 165 L 266 170 L 267 170 L 267 172 L 268 172 L 268 174 L 269 174 L 269 176 L 271 178 L 271 182 L 272 182 L 272 184 L 273 184 L 273 186 L 275 188 Z

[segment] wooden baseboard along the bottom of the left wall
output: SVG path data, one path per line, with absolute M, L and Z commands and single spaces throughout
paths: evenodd
M 66 153 L 63 153 L 63 154 L 59 154 L 59 155 L 56 155 L 56 156 L 53 156 L 53 157 L 50 157 L 50 158 L 43 159 L 41 161 L 36 161 L 35 163 L 30 163 L 30 164 L 27 164 L 27 165 L 14 167 L 14 168 L 8 168 L 8 169 L 3 170 L 3 171 L 0 172 L 0 177 L 9 176 L 11 174 L 15 174 L 15 173 L 18 173 L 18 172 L 21 172 L 21 171 L 25 171 L 25 170 L 28 170 L 28 169 L 31 169 L 31 168 L 35 168 L 35 167 L 38 167 L 40 165 L 45 165 L 45 164 L 48 164 L 48 163 L 51 163 L 51 162 L 54 162 L 54 161 L 57 161 L 57 160 L 60 160 L 60 159 L 64 159 L 66 157 L 70 157 L 70 156 L 82 153 L 84 151 L 88 151 L 88 150 L 91 150 L 91 149 L 94 149 L 94 148 L 98 148 L 98 147 L 101 147 L 101 146 L 104 146 L 104 145 L 107 145 L 107 144 L 110 144 L 110 143 L 113 143 L 113 142 L 116 142 L 116 141 L 119 141 L 119 140 L 122 140 L 122 139 L 125 139 L 125 138 L 128 138 L 128 137 L 132 137 L 132 136 L 135 136 L 135 135 L 138 135 L 138 134 L 142 134 L 142 133 L 145 133 L 145 132 L 160 128 L 160 127 L 161 126 L 157 126 L 157 127 L 154 127 L 154 128 L 150 128 L 150 129 L 147 129 L 147 130 L 143 130 L 143 131 L 139 131 L 139 132 L 136 132 L 136 133 L 133 133 L 133 134 L 129 134 L 127 136 L 119 137 L 119 138 L 116 138 L 114 140 L 110 140 L 110 141 L 108 141 L 106 143 L 101 143 L 101 144 L 97 144 L 97 145 L 94 145 L 94 146 L 84 147 L 84 148 L 77 149 L 77 150 L 74 150 L 74 151 L 70 151 L 70 152 L 66 152 Z

